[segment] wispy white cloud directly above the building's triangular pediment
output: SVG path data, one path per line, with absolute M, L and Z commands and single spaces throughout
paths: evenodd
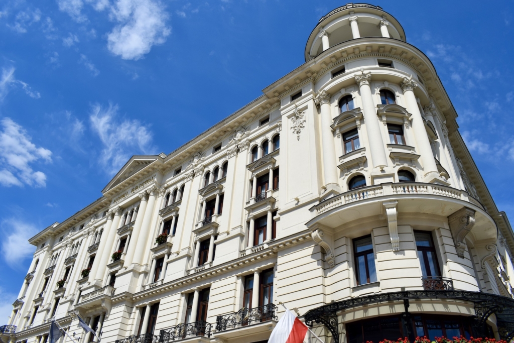
M 132 155 L 154 150 L 148 127 L 139 120 L 119 120 L 117 115 L 118 105 L 112 104 L 107 108 L 94 104 L 89 115 L 91 129 L 103 143 L 100 163 L 109 174 L 116 174 Z

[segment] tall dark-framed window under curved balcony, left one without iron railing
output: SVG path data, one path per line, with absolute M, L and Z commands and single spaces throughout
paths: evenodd
M 353 240 L 355 256 L 355 276 L 357 284 L 366 284 L 377 281 L 375 270 L 375 256 L 373 254 L 373 241 L 371 236 Z

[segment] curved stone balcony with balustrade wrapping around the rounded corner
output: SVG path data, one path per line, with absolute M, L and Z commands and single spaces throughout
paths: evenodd
M 467 207 L 475 211 L 471 232 L 477 240 L 495 238 L 496 235 L 491 216 L 466 191 L 427 183 L 384 183 L 338 194 L 311 207 L 312 219 L 306 225 L 312 230 L 335 230 L 372 216 L 393 219 L 391 207 L 395 217 L 406 213 L 448 217 Z

